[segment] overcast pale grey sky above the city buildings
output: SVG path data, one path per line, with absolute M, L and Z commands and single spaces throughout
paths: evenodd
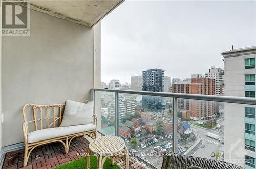
M 205 74 L 232 45 L 256 45 L 256 1 L 125 1 L 101 21 L 101 81 Z

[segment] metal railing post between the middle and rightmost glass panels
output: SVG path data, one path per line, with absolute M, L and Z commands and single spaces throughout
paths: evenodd
M 177 143 L 177 98 L 173 97 L 173 153 L 176 153 L 176 143 Z

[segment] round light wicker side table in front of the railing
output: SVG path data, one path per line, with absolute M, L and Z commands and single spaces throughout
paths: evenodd
M 126 168 L 129 169 L 129 152 L 122 138 L 117 136 L 103 136 L 94 139 L 87 149 L 86 169 L 90 167 L 90 155 L 98 159 L 98 169 L 103 168 L 106 158 L 111 157 L 111 164 L 114 165 L 115 157 L 124 157 Z

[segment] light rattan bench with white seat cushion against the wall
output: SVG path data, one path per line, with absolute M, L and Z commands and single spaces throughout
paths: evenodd
M 88 103 L 89 101 L 82 101 L 83 103 Z M 29 155 L 34 148 L 37 146 L 52 143 L 60 142 L 65 148 L 65 153 L 69 152 L 69 146 L 71 140 L 78 136 L 88 135 L 93 139 L 96 138 L 97 133 L 97 116 L 93 115 L 93 124 L 90 125 L 90 129 L 87 129 L 86 125 L 77 125 L 69 127 L 79 127 L 79 130 L 69 132 L 65 134 L 67 128 L 69 127 L 59 127 L 62 117 L 65 104 L 51 104 L 51 105 L 36 105 L 36 104 L 26 104 L 23 107 L 23 135 L 25 139 L 25 151 L 24 151 L 24 161 L 23 166 L 25 167 L 28 163 Z M 29 114 L 29 115 L 27 115 Z M 30 119 L 30 120 L 29 120 Z M 32 123 L 32 126 L 30 125 Z M 93 127 L 91 127 L 93 126 Z M 31 130 L 32 128 L 32 130 Z M 61 129 L 61 131 L 59 130 Z M 70 128 L 69 128 L 70 129 Z M 77 129 L 77 128 L 73 128 Z M 44 133 L 41 135 L 40 140 L 30 142 L 29 138 L 33 132 Z M 58 136 L 54 136 L 54 133 L 58 132 Z M 48 134 L 47 134 L 48 133 Z M 60 134 L 59 134 L 60 133 Z M 38 134 L 37 134 L 38 135 Z M 45 135 L 51 135 L 51 138 L 44 139 Z

